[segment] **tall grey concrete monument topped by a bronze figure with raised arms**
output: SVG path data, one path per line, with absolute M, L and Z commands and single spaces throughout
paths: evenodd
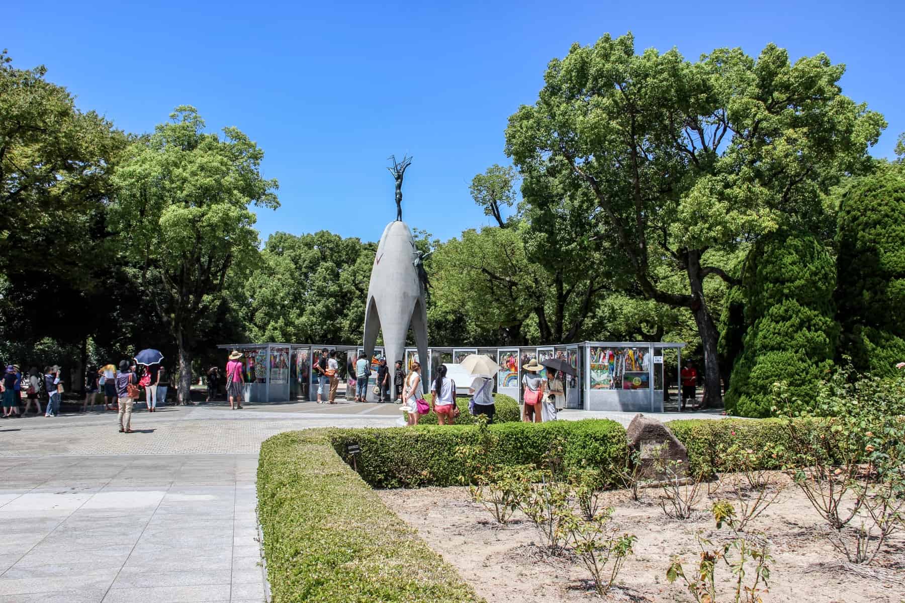
M 408 224 L 402 221 L 402 178 L 411 158 L 402 163 L 393 159 L 390 173 L 395 177 L 396 220 L 386 225 L 377 244 L 371 282 L 367 287 L 365 306 L 365 353 L 371 358 L 377 342 L 377 333 L 384 334 L 386 364 L 395 366 L 397 360 L 405 363 L 405 337 L 409 326 L 414 331 L 418 358 L 427 359 L 427 278 L 422 265 L 424 254 L 415 249 L 414 237 Z M 394 171 L 394 168 L 395 171 Z M 422 371 L 427 374 L 427 367 Z M 395 372 L 390 371 L 395 380 Z M 368 400 L 374 397 L 367 392 Z M 395 382 L 390 386 L 390 397 L 395 400 Z

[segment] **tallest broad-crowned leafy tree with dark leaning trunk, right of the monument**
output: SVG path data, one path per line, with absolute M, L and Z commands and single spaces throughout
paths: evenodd
M 718 49 L 691 62 L 605 35 L 550 61 L 538 101 L 510 117 L 515 165 L 592 194 L 600 240 L 643 295 L 691 311 L 705 405 L 719 404 L 720 389 L 704 281 L 735 282 L 712 252 L 781 224 L 823 227 L 822 195 L 865 167 L 885 126 L 843 96 L 843 71 L 824 54 L 792 63 L 773 44 L 756 59 Z M 655 258 L 686 279 L 683 292 L 661 286 Z

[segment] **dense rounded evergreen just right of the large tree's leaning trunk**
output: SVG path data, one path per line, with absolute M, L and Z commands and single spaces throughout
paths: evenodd
M 810 234 L 779 231 L 757 241 L 742 274 L 747 329 L 732 369 L 726 408 L 767 417 L 774 383 L 809 404 L 833 368 L 834 261 Z

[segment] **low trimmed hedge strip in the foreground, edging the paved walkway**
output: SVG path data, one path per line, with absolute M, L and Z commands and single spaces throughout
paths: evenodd
M 482 600 L 337 457 L 322 429 L 262 444 L 258 517 L 274 603 Z

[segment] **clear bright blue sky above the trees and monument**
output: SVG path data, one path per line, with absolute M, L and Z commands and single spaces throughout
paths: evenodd
M 134 4 L 134 5 L 132 5 Z M 637 50 L 688 58 L 722 46 L 826 52 L 844 93 L 905 131 L 901 0 L 851 2 L 28 3 L 10 0 L 0 47 L 43 63 L 82 109 L 147 132 L 179 104 L 262 146 L 282 206 L 272 231 L 376 240 L 395 218 L 391 154 L 414 155 L 405 221 L 447 239 L 489 223 L 468 183 L 505 164 L 503 129 L 572 42 L 631 30 Z

